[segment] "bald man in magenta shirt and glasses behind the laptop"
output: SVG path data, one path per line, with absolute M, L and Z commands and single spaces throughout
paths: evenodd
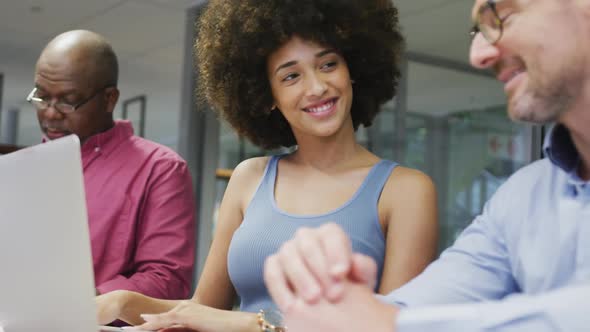
M 27 101 L 45 140 L 75 134 L 82 143 L 97 295 L 125 289 L 187 298 L 194 259 L 191 177 L 175 152 L 113 120 L 117 77 L 116 55 L 102 36 L 65 32 L 41 53 Z

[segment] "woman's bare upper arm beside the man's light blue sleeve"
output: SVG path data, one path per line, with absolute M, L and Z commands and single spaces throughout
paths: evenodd
M 420 274 L 436 256 L 438 209 L 432 180 L 420 171 L 396 167 L 379 210 L 387 226 L 379 293 L 387 294 Z

